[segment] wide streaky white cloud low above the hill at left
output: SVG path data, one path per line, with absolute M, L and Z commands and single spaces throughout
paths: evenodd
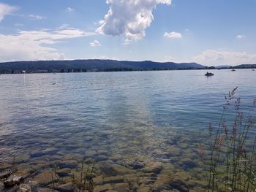
M 0 34 L 1 61 L 34 61 L 64 59 L 59 50 L 49 47 L 63 41 L 78 37 L 94 35 L 77 28 L 63 28 L 54 31 L 19 31 L 18 34 Z

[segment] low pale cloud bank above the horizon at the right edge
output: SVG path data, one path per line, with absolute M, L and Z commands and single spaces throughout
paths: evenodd
M 192 58 L 207 66 L 256 64 L 256 53 L 235 52 L 228 50 L 205 50 Z

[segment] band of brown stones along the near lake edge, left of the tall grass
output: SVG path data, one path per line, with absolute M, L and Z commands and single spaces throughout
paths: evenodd
M 49 153 L 53 149 L 47 150 Z M 155 153 L 161 155 L 159 151 Z M 142 157 L 124 160 L 122 155 L 108 155 L 99 150 L 80 157 L 65 155 L 61 160 L 27 164 L 31 156 L 35 154 L 17 157 L 15 164 L 0 164 L 0 191 L 89 191 L 83 190 L 80 184 L 84 182 L 87 186 L 90 178 L 95 192 L 205 192 L 207 188 L 203 177 L 207 173 L 192 158 L 181 158 L 178 164 Z M 83 164 L 78 158 L 83 159 Z

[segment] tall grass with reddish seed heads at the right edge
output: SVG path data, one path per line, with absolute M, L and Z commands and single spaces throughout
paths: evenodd
M 236 98 L 237 89 L 225 96 L 217 129 L 209 125 L 211 164 L 208 191 L 256 191 L 256 130 L 253 130 L 256 118 L 252 115 L 256 99 L 246 112 L 241 112 L 241 99 Z M 230 110 L 234 115 L 233 123 L 229 121 Z

